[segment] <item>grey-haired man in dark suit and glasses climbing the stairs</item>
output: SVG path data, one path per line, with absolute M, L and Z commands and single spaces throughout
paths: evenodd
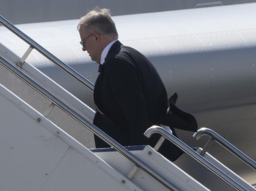
M 123 146 L 154 146 L 143 133 L 167 113 L 167 93 L 150 61 L 122 45 L 108 9 L 95 8 L 78 24 L 83 51 L 99 65 L 93 124 Z M 96 148 L 109 147 L 95 136 Z

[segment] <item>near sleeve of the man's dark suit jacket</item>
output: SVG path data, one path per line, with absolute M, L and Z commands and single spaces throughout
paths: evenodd
M 149 127 L 147 106 L 137 69 L 132 63 L 113 58 L 105 65 L 109 86 L 130 127 L 132 145 L 148 144 L 143 135 Z

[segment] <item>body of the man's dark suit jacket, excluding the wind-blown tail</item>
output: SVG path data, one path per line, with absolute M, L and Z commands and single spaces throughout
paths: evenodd
M 147 145 L 146 129 L 166 114 L 165 87 L 154 66 L 135 49 L 115 42 L 95 82 L 93 124 L 123 146 Z M 156 140 L 154 141 L 154 143 Z M 96 148 L 109 147 L 95 136 Z

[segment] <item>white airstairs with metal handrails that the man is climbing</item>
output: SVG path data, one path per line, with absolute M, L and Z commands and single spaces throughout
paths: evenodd
M 191 149 L 157 126 L 145 136 L 161 134 L 158 146 L 121 146 L 92 124 L 93 109 L 25 60 L 36 49 L 91 91 L 94 85 L 2 16 L 0 22 L 29 45 L 19 58 L 0 44 L 1 191 L 256 190 L 207 150 L 217 141 L 254 169 L 256 162 L 210 129 L 194 135 L 210 136 L 203 149 Z M 93 139 L 84 140 L 87 129 L 111 148 L 88 149 Z M 163 139 L 184 155 L 174 163 L 160 155 Z

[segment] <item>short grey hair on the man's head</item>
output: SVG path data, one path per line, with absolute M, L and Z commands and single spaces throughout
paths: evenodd
M 115 23 L 111 19 L 111 13 L 109 9 L 95 9 L 89 11 L 85 16 L 81 17 L 77 29 L 85 27 L 90 32 L 97 32 L 100 35 L 114 35 L 118 37 Z

